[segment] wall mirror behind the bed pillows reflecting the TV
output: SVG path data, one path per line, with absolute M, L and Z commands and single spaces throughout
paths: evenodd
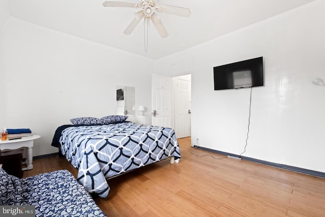
M 135 87 L 116 86 L 117 114 L 135 116 Z

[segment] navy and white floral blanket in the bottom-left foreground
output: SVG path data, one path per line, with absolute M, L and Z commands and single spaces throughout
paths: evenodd
M 68 170 L 20 179 L 0 168 L 0 205 L 32 205 L 35 216 L 42 217 L 106 216 Z M 5 215 L 15 216 L 14 213 Z

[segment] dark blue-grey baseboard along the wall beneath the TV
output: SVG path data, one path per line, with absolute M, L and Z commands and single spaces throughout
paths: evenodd
M 207 150 L 207 151 L 211 151 L 211 152 L 214 152 L 214 153 L 219 153 L 219 154 L 222 154 L 222 155 L 225 155 L 225 156 L 232 156 L 232 157 L 236 157 L 236 158 L 240 157 L 242 160 L 251 161 L 251 162 L 258 163 L 258 164 L 264 164 L 264 165 L 277 167 L 277 168 L 281 168 L 281 169 L 285 169 L 285 170 L 290 170 L 290 171 L 294 171 L 294 172 L 304 173 L 304 174 L 307 174 L 307 175 L 312 175 L 312 176 L 325 178 L 325 173 L 318 172 L 318 171 L 315 171 L 315 170 L 308 170 L 308 169 L 304 169 L 304 168 L 300 168 L 300 167 L 293 167 L 293 166 L 289 166 L 289 165 L 285 165 L 285 164 L 277 164 L 277 163 L 272 163 L 272 162 L 268 162 L 268 161 L 262 161 L 262 160 L 255 159 L 255 158 L 248 158 L 248 157 L 245 157 L 245 156 L 239 156 L 237 154 L 228 153 L 228 152 L 219 151 L 219 150 L 214 150 L 214 149 L 205 148 L 205 147 L 200 147 L 200 146 L 197 146 L 197 148 Z

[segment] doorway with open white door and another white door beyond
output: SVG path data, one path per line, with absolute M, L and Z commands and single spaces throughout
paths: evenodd
M 191 134 L 191 74 L 152 74 L 152 125 L 173 128 L 176 137 Z

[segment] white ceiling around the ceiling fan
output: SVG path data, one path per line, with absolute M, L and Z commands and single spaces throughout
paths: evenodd
M 121 0 L 138 4 L 137 0 Z M 123 31 L 133 20 L 134 8 L 103 7 L 105 0 L 8 0 L 10 15 L 31 23 L 101 43 L 148 58 L 158 59 L 220 37 L 234 30 L 300 7 L 314 0 L 157 0 L 161 5 L 190 8 L 190 17 L 157 13 L 169 32 L 160 38 L 149 27 L 144 51 L 144 25 L 131 35 Z

